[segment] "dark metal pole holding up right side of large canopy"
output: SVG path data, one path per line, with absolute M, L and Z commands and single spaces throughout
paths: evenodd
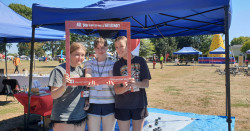
M 226 104 L 227 104 L 227 123 L 228 131 L 231 131 L 231 103 L 230 103 L 230 71 L 229 71 L 229 25 L 228 25 L 228 11 L 229 6 L 225 6 L 225 46 L 226 46 Z

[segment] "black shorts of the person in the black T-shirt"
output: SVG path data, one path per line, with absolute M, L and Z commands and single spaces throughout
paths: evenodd
M 136 109 L 115 109 L 115 118 L 117 120 L 141 120 L 148 116 L 147 108 L 136 108 Z

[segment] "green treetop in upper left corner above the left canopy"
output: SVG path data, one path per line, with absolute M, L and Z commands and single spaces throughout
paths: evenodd
M 22 15 L 23 17 L 32 20 L 32 9 L 22 5 L 22 4 L 10 4 L 9 7 L 17 12 L 18 14 Z

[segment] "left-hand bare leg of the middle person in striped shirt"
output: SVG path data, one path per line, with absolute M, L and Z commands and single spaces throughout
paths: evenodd
M 89 131 L 100 131 L 101 117 L 88 115 L 88 129 Z

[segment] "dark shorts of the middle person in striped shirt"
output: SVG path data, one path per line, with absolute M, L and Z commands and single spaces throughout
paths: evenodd
M 110 114 L 114 114 L 115 112 L 115 104 L 90 104 L 90 108 L 88 113 L 90 115 L 95 116 L 107 116 Z

